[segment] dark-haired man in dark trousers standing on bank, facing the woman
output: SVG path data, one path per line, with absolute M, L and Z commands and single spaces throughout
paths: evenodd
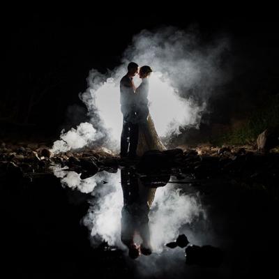
M 135 158 L 139 136 L 137 113 L 135 106 L 135 84 L 133 77 L 138 72 L 139 66 L 135 62 L 128 64 L 128 73 L 120 81 L 120 104 L 123 114 L 123 128 L 121 133 L 120 156 Z

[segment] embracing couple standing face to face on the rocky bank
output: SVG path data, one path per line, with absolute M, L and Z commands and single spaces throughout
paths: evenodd
M 142 83 L 137 88 L 133 77 L 140 75 Z M 148 150 L 165 150 L 149 114 L 149 66 L 128 64 L 128 73 L 120 81 L 120 103 L 123 114 L 121 133 L 121 158 L 136 158 Z

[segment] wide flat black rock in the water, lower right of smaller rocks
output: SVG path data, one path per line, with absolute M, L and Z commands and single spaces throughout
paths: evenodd
M 223 262 L 223 251 L 213 246 L 188 246 L 185 250 L 186 264 L 218 267 Z

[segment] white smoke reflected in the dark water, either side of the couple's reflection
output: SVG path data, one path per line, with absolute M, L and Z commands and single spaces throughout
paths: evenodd
M 80 179 L 80 174 L 66 172 L 54 167 L 54 174 L 61 179 L 64 186 L 91 193 L 91 204 L 83 223 L 91 232 L 91 241 L 98 244 L 107 241 L 110 246 L 123 248 L 121 242 L 121 209 L 123 194 L 120 172 L 111 174 L 98 172 L 88 179 Z M 107 183 L 103 183 L 106 181 Z M 173 183 L 156 190 L 156 196 L 149 213 L 151 246 L 153 252 L 163 252 L 165 243 L 173 241 L 179 235 L 179 229 L 198 218 L 205 218 L 204 209 L 197 195 L 185 195 L 174 190 Z

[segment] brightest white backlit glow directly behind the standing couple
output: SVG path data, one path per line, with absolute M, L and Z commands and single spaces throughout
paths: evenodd
M 135 84 L 139 85 L 140 82 L 135 78 Z M 194 106 L 191 100 L 179 97 L 178 91 L 160 72 L 152 73 L 149 82 L 149 110 L 158 135 L 164 137 L 168 133 L 179 133 L 179 126 L 197 122 L 197 114 L 203 107 Z M 119 142 L 123 122 L 119 81 L 109 78 L 98 89 L 90 89 L 90 93 L 91 102 L 95 102 L 103 126 L 110 130 L 112 140 Z

